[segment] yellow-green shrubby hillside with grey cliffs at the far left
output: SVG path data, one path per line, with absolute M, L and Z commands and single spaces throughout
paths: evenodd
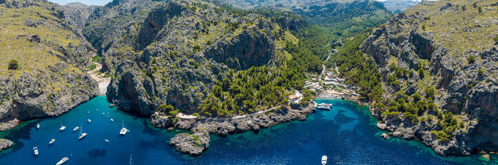
M 92 45 L 48 1 L 0 1 L 0 131 L 59 115 L 98 94 Z

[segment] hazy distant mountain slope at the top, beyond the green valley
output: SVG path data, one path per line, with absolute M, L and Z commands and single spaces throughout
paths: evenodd
M 302 14 L 312 25 L 324 29 L 329 41 L 347 39 L 366 28 L 387 21 L 392 13 L 381 2 L 373 0 L 326 0 L 326 1 L 251 1 L 225 0 L 238 8 L 276 8 Z

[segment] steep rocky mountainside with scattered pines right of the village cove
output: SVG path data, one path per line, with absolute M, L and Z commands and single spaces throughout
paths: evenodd
M 424 1 L 373 30 L 361 49 L 380 66 L 389 109 L 373 113 L 389 131 L 423 140 L 440 155 L 497 151 L 496 15 L 490 1 Z M 411 105 L 415 118 L 400 110 Z

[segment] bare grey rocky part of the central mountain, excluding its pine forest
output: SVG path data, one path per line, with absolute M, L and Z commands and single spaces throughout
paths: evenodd
M 229 69 L 276 65 L 275 34 L 285 32 L 267 17 L 206 1 L 116 1 L 88 22 L 83 34 L 114 74 L 108 98 L 145 115 L 161 104 L 196 112 Z

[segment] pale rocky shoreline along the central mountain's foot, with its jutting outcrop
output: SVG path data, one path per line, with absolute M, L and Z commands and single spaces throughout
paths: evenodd
M 290 107 L 280 107 L 272 111 L 267 111 L 267 113 L 248 115 L 245 118 L 198 118 L 172 122 L 167 117 L 152 115 L 150 123 L 158 128 L 174 127 L 189 130 L 194 132 L 194 135 L 199 132 L 205 132 L 226 136 L 251 130 L 258 132 L 262 128 L 276 124 L 298 119 L 305 120 L 306 115 L 316 111 L 317 105 L 315 102 L 310 102 L 304 106 L 292 103 Z M 209 139 L 207 142 L 203 141 L 203 147 L 205 146 L 203 148 L 196 145 L 196 143 L 192 142 L 191 138 L 187 138 L 187 135 L 182 133 L 173 137 L 169 144 L 176 146 L 176 149 L 182 153 L 195 156 L 200 155 L 209 146 Z M 201 148 L 203 148 L 202 151 Z

